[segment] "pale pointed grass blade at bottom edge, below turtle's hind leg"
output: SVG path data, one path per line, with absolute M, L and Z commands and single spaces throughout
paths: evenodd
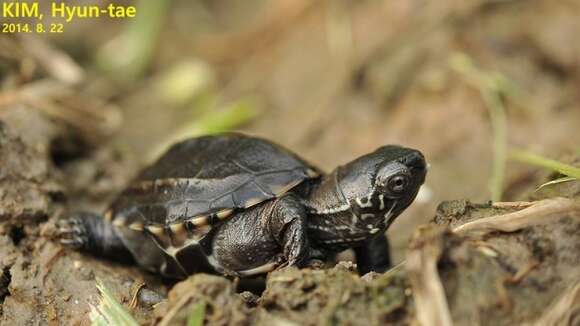
M 115 299 L 113 294 L 103 282 L 97 278 L 97 289 L 101 294 L 98 306 L 91 309 L 91 325 L 122 325 L 138 326 L 139 324 L 131 314 Z

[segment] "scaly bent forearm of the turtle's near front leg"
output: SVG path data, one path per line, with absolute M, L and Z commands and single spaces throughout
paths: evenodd
M 269 229 L 282 247 L 289 266 L 304 266 L 310 258 L 306 236 L 306 210 L 294 196 L 280 198 L 270 217 Z

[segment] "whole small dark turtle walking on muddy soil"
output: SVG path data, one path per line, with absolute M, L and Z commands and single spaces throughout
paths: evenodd
M 361 274 L 384 272 L 385 230 L 413 202 L 426 172 L 420 151 L 398 145 L 325 174 L 263 138 L 201 136 L 171 146 L 102 216 L 61 219 L 58 237 L 169 278 L 265 274 L 349 248 Z

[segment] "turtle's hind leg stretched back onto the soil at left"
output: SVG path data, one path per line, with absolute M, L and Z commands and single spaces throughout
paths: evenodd
M 69 248 L 119 262 L 133 261 L 114 226 L 99 215 L 75 213 L 58 221 L 57 233 L 60 243 Z

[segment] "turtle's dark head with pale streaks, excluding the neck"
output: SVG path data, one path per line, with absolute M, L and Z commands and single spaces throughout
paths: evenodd
M 388 145 L 340 167 L 337 173 L 352 213 L 377 232 L 413 202 L 425 181 L 427 163 L 418 150 Z

